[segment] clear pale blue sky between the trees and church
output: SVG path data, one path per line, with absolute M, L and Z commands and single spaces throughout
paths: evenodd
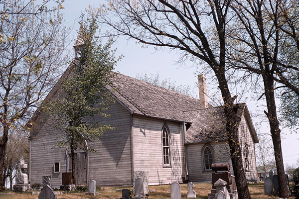
M 97 6 L 100 3 L 105 3 L 104 0 L 65 0 L 63 6 L 65 7 L 62 12 L 64 13 L 64 19 L 66 26 L 74 27 L 70 39 L 76 39 L 77 31 L 79 30 L 79 17 L 81 11 L 87 13 L 85 8 L 88 5 Z M 74 42 L 72 42 L 73 45 Z M 186 63 L 185 66 L 180 66 L 175 64 L 178 59 L 178 55 L 175 51 L 170 52 L 168 49 L 163 51 L 155 52 L 152 47 L 142 48 L 141 45 L 136 44 L 135 41 L 127 41 L 121 38 L 115 44 L 117 48 L 117 55 L 124 55 L 122 61 L 118 64 L 116 71 L 130 77 L 136 77 L 137 74 L 156 74 L 159 73 L 161 79 L 170 78 L 171 81 L 176 82 L 177 85 L 189 85 L 195 87 L 197 81 L 197 68 L 191 67 L 191 63 Z M 70 46 L 71 48 L 71 46 Z M 207 79 L 208 84 L 208 95 L 211 94 L 211 88 L 217 87 L 215 82 L 211 79 Z M 209 89 L 210 88 L 210 89 Z M 210 93 L 209 93 L 210 90 Z M 194 89 L 197 96 L 197 89 Z M 249 111 L 255 113 L 256 109 L 263 108 L 257 107 L 257 103 L 254 100 L 243 100 L 246 102 Z M 252 117 L 254 122 L 258 122 L 258 118 Z M 270 132 L 269 125 L 264 122 L 261 129 L 256 127 L 257 131 Z M 295 164 L 297 159 L 299 159 L 299 140 L 298 134 L 290 134 L 288 129 L 283 130 L 283 155 L 284 162 L 286 164 Z M 297 165 L 299 166 L 299 165 Z

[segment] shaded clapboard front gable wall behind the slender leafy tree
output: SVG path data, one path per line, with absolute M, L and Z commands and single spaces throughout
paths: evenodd
M 100 141 L 89 143 L 98 151 L 89 154 L 89 179 L 95 180 L 98 186 L 131 185 L 131 114 L 118 102 L 111 104 L 106 112 L 111 116 L 88 118 L 117 128 L 105 132 Z M 42 176 L 49 175 L 52 186 L 58 187 L 62 183 L 61 173 L 67 172 L 66 148 L 52 148 L 59 140 L 57 130 L 45 123 L 38 123 L 38 127 L 30 140 L 31 184 L 42 183 Z M 58 174 L 53 173 L 54 161 L 61 164 Z

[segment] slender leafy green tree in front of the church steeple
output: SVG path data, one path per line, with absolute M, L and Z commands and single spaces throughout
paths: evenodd
M 107 117 L 105 110 L 113 102 L 113 97 L 106 86 L 115 75 L 112 72 L 117 61 L 114 51 L 111 50 L 112 41 L 105 45 L 99 44 L 95 36 L 97 24 L 94 19 L 88 29 L 84 23 L 80 27 L 79 36 L 83 43 L 79 45 L 79 57 L 70 68 L 68 76 L 61 85 L 61 92 L 55 99 L 49 99 L 44 104 L 44 110 L 54 118 L 55 127 L 63 129 L 59 147 L 69 146 L 72 160 L 72 177 L 75 179 L 75 150 L 83 149 L 86 152 L 94 151 L 87 144 L 94 142 L 107 130 L 114 129 L 93 121 L 96 114 Z

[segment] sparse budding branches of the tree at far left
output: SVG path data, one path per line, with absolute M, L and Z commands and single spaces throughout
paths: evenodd
M 67 30 L 46 2 L 0 1 L 0 185 L 10 130 L 24 127 L 65 66 Z

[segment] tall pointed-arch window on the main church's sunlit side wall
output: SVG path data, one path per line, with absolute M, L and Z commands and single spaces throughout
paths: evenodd
M 162 128 L 162 162 L 163 167 L 170 167 L 170 132 L 166 124 Z M 167 163 L 168 162 L 168 163 Z

